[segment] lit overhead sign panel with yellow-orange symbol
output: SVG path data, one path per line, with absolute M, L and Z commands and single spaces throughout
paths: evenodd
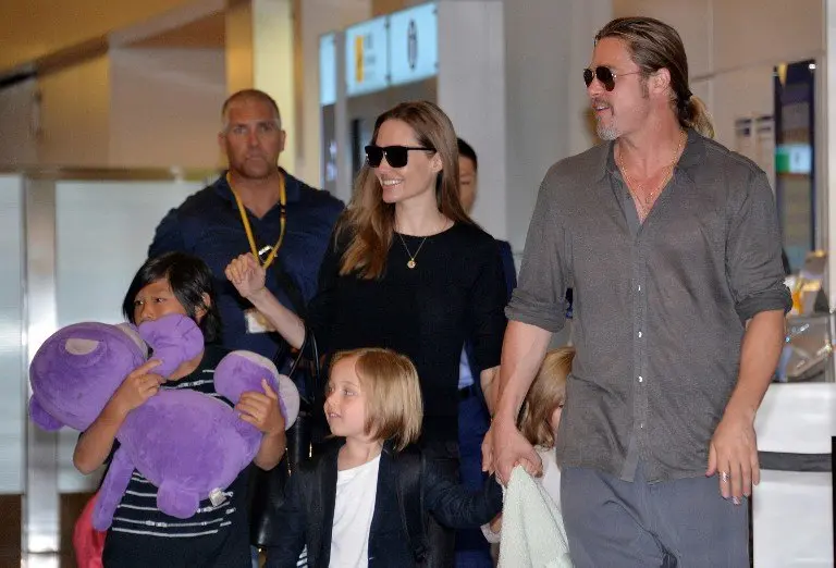
M 381 16 L 345 30 L 346 92 L 362 95 L 389 85 L 388 17 Z

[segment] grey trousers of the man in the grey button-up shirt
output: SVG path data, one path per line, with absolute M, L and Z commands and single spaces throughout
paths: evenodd
M 716 476 L 649 483 L 564 468 L 561 508 L 575 568 L 749 568 L 749 503 Z

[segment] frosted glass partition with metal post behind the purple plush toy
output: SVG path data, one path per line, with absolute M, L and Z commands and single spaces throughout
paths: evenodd
M 29 361 L 60 326 L 123 320 L 155 227 L 209 176 L 0 173 L 0 565 L 74 566 L 72 524 L 99 481 L 73 468 L 77 432 L 28 420 Z

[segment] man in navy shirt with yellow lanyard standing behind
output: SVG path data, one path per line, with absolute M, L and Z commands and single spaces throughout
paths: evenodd
M 286 135 L 269 95 L 235 92 L 223 103 L 221 120 L 218 141 L 229 170 L 165 215 L 148 255 L 184 250 L 204 259 L 216 276 L 224 346 L 272 359 L 283 341 L 238 297 L 223 271 L 251 251 L 267 267 L 267 287 L 286 307 L 304 311 L 343 203 L 278 165 Z

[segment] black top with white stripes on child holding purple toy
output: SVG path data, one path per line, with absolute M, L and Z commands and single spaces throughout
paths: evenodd
M 207 345 L 197 369 L 163 390 L 189 388 L 226 404 L 214 392 L 214 368 L 229 351 Z M 157 487 L 134 470 L 104 542 L 106 567 L 180 568 L 249 566 L 247 470 L 225 491 L 219 506 L 200 502 L 197 513 L 177 519 L 157 508 Z

